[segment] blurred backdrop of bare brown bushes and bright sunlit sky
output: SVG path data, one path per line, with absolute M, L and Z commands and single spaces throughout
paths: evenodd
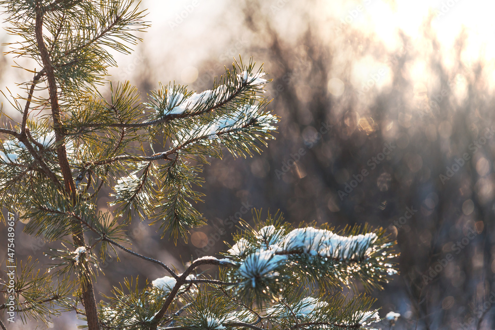
M 393 329 L 495 329 L 491 2 L 143 0 L 140 6 L 149 9 L 151 27 L 132 55 L 116 54 L 111 80 L 130 80 L 144 98 L 159 81 L 203 91 L 234 57 L 253 56 L 273 79 L 266 95 L 281 121 L 261 155 L 226 155 L 204 167 L 198 189 L 206 197 L 198 209 L 208 225 L 192 231 L 188 243 L 160 240 L 155 228 L 136 221 L 129 230 L 134 250 L 182 269 L 224 251 L 236 231 L 225 220 L 252 223 L 253 209 L 280 210 L 295 225 L 369 223 L 387 228 L 400 253 L 400 275 L 370 293 L 381 317 L 401 314 Z M 12 64 L 11 56 L 1 57 L 0 86 L 16 94 L 13 82 L 31 74 Z M 24 236 L 18 257 L 42 258 L 48 244 Z M 110 294 L 123 276 L 139 275 L 145 285 L 166 275 L 119 257 L 101 266 L 97 291 Z M 74 318 L 51 327 L 75 329 Z

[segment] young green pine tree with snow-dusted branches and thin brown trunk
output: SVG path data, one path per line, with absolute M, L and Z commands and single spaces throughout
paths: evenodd
M 239 59 L 211 90 L 170 83 L 142 101 L 129 82 L 105 80 L 116 65 L 109 49 L 130 53 L 148 26 L 132 0 L 0 4 L 7 31 L 22 39 L 10 52 L 41 68 L 24 68 L 34 75 L 21 84 L 25 95 L 8 96 L 22 119 L 1 112 L 2 221 L 22 221 L 25 233 L 63 246 L 45 251 L 50 267 L 19 261 L 13 284 L 0 286 L 4 315 L 47 322 L 76 310 L 90 330 L 370 329 L 379 321 L 374 299 L 336 292 L 381 288 L 396 273 L 383 229 L 293 228 L 278 212 L 256 211 L 221 258 L 193 259 L 182 273 L 126 247 L 133 218 L 150 221 L 163 239 L 187 239 L 206 222 L 193 203 L 209 157 L 252 156 L 273 138 L 278 118 L 267 109 L 262 67 Z M 105 188 L 114 193 L 101 212 Z M 123 278 L 97 303 L 94 281 L 110 250 L 159 265 L 164 277 L 145 287 Z M 201 265 L 218 267 L 218 277 L 198 274 Z

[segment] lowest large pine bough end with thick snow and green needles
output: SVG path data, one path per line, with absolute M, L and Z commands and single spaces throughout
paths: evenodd
M 356 227 L 350 233 L 353 235 L 341 236 L 327 229 L 288 230 L 273 225 L 253 229 L 228 251 L 227 256 L 239 267 L 227 272 L 226 281 L 242 283 L 234 288 L 240 294 L 251 289 L 275 294 L 283 283 L 296 278 L 330 285 L 354 285 L 354 279 L 366 286 L 366 279 L 372 277 L 376 280 L 372 286 L 377 286 L 387 281 L 386 275 L 396 274 L 387 262 L 395 255 L 383 230 L 365 233 Z M 271 285 L 274 289 L 269 293 L 265 287 Z

